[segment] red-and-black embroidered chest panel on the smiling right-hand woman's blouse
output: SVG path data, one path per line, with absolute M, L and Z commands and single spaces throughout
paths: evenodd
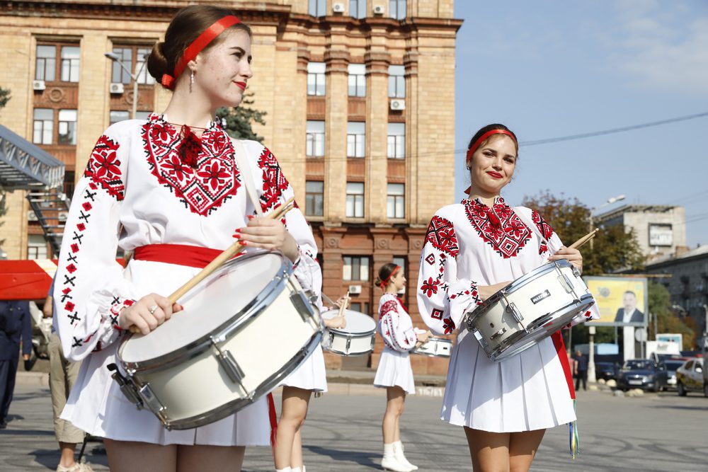
M 531 238 L 531 230 L 501 197 L 493 209 L 477 200 L 463 200 L 462 205 L 469 223 L 482 241 L 505 259 L 517 255 Z

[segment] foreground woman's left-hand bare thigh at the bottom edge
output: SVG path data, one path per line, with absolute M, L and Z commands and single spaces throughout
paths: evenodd
M 176 472 L 177 446 L 104 439 L 111 472 Z

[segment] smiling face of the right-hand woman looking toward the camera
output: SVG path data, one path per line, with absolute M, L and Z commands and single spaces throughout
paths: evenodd
M 494 134 L 472 154 L 469 177 L 476 191 L 498 195 L 516 168 L 516 146 L 506 134 Z

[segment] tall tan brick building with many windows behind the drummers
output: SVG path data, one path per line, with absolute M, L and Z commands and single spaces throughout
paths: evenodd
M 0 123 L 64 162 L 67 194 L 103 129 L 129 117 L 133 100 L 137 117 L 168 103 L 169 93 L 143 67 L 144 54 L 176 10 L 194 3 L 200 1 L 1 4 L 0 86 L 12 98 Z M 334 299 L 349 290 L 353 309 L 375 313 L 377 268 L 394 260 L 406 270 L 404 299 L 420 323 L 415 293 L 426 226 L 453 200 L 455 38 L 462 24 L 452 18 L 453 0 L 222 4 L 253 28 L 249 91 L 253 108 L 267 113 L 256 131 L 312 223 L 324 292 Z M 23 192 L 9 194 L 8 207 L 0 226 L 8 258 L 45 255 Z M 344 362 L 355 367 L 367 359 Z M 341 357 L 328 363 L 341 366 Z M 421 373 L 445 369 L 426 357 L 413 365 Z

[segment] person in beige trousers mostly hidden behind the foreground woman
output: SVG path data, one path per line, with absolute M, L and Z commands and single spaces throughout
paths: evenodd
M 52 290 L 50 295 L 45 299 L 45 304 L 42 307 L 42 313 L 45 318 L 52 318 L 54 314 Z M 79 367 L 81 362 L 69 362 L 64 357 L 62 352 L 62 342 L 56 330 L 52 329 L 52 334 L 49 339 L 49 390 L 52 396 L 52 414 L 54 415 L 54 434 L 59 442 L 59 450 L 62 456 L 57 464 L 57 472 L 93 472 L 91 466 L 87 464 L 77 464 L 74 459 L 76 444 L 84 441 L 86 433 L 72 425 L 67 420 L 62 420 L 59 415 L 64 410 L 64 405 L 67 404 L 69 392 L 74 387 L 76 376 L 79 375 Z

